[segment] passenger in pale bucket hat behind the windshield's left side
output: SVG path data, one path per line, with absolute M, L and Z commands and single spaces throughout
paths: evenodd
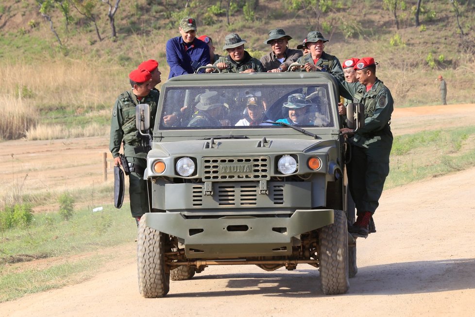
M 229 120 L 224 120 L 225 106 L 217 91 L 207 91 L 199 96 L 200 102 L 195 108 L 198 113 L 191 119 L 188 126 L 216 128 L 230 126 Z

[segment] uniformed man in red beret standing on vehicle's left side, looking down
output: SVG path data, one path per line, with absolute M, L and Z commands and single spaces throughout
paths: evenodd
M 132 89 L 119 95 L 112 110 L 109 149 L 114 158 L 114 165 L 121 165 L 119 151 L 120 145 L 123 144 L 124 156 L 130 169 L 130 211 L 138 224 L 140 217 L 149 211 L 149 199 L 147 181 L 143 179 L 147 167 L 148 146 L 144 144 L 136 129 L 136 105 L 150 106 L 150 125 L 153 127 L 159 94 L 152 90 L 152 75 L 148 70 L 143 68 L 132 70 L 129 73 L 129 81 Z

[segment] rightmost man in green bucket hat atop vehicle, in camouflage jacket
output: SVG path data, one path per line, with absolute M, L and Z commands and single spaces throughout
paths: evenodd
M 310 53 L 300 57 L 297 60 L 299 64 L 305 64 L 302 68 L 305 71 L 327 71 L 332 74 L 337 81 L 344 79 L 343 70 L 337 57 L 323 52 L 325 42 L 328 42 L 318 31 L 312 31 L 307 34 L 305 46 Z

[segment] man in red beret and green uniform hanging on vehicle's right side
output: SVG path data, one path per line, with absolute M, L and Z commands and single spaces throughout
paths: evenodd
M 357 83 L 340 83 L 341 95 L 356 103 L 363 103 L 365 123 L 353 131 L 342 128 L 350 135 L 351 160 L 347 164 L 348 185 L 356 205 L 356 222 L 348 231 L 367 235 L 376 232 L 372 216 L 383 192 L 389 174 L 389 156 L 392 147 L 390 120 L 394 101 L 390 90 L 376 77 L 373 57 L 356 62 Z M 372 226 L 370 226 L 370 222 Z

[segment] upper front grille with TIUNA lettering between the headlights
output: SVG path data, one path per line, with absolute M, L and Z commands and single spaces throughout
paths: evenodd
M 238 181 L 270 179 L 270 158 L 224 157 L 203 158 L 203 180 Z

